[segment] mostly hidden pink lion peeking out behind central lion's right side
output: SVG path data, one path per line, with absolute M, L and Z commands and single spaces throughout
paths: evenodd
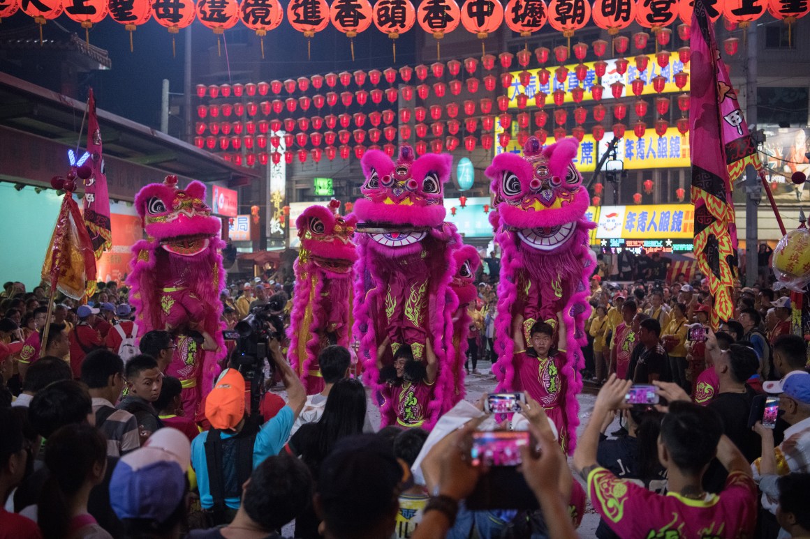
M 453 404 L 464 398 L 464 360 L 467 357 L 467 335 L 470 334 L 471 317 L 467 313 L 470 304 L 475 304 L 478 290 L 475 288 L 475 272 L 481 265 L 481 257 L 472 245 L 462 245 L 453 252 L 455 258 L 455 274 L 450 281 L 450 292 L 447 299 L 445 316 L 450 316 L 453 324 L 453 350 L 454 359 L 450 366 L 453 369 L 454 387 L 452 395 Z

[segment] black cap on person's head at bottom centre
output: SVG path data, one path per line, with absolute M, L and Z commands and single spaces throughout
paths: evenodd
M 380 514 L 389 507 L 391 494 L 396 496 L 412 484 L 411 470 L 394 456 L 391 444 L 381 436 L 364 434 L 335 444 L 321 465 L 318 493 L 324 507 L 354 513 L 362 520 L 369 511 Z

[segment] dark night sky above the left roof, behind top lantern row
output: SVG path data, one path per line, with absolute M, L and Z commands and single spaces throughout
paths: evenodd
M 282 2 L 286 9 L 287 2 Z M 76 33 L 84 37 L 84 30 L 79 23 L 68 19 L 65 15 L 45 25 L 45 37 L 54 40 L 66 40 L 69 33 Z M 64 32 L 61 28 L 67 32 Z M 216 56 L 216 37 L 211 30 L 202 23 L 194 21 L 194 69 L 192 74 L 192 87 L 197 83 L 209 83 L 210 72 L 220 71 L 224 66 L 224 47 L 222 60 Z M 38 39 L 36 25 L 28 15 L 19 11 L 10 19 L 3 19 L 0 25 L 0 39 L 4 33 L 20 28 L 28 28 L 26 36 Z M 397 66 L 413 63 L 415 34 L 419 30 L 414 28 L 408 34 L 400 36 L 397 40 Z M 128 32 L 122 24 L 112 19 L 104 19 L 90 31 L 90 43 L 106 49 L 113 62 L 111 70 L 96 71 L 89 76 L 79 79 L 79 96 L 83 100 L 87 95 L 87 87 L 92 86 L 96 92 L 96 101 L 100 108 L 113 112 L 133 121 L 159 127 L 160 125 L 160 89 L 163 79 L 169 80 L 170 91 L 181 93 L 183 91 L 183 58 L 185 30 L 177 35 L 177 57 L 172 57 L 172 35 L 166 28 L 151 19 L 139 26 L 134 32 L 134 53 L 130 53 L 130 40 Z M 225 32 L 224 40 L 230 39 L 232 43 L 246 43 L 251 48 L 258 49 L 258 37 L 254 32 L 244 28 L 241 23 L 232 30 Z M 265 37 L 266 58 L 249 64 L 258 74 L 258 80 L 296 78 L 300 75 L 326 73 L 330 70 L 357 70 L 377 67 L 385 69 L 393 65 L 391 53 L 391 40 L 376 27 L 371 27 L 355 38 L 356 61 L 352 62 L 349 43 L 346 36 L 328 26 L 319 32 L 312 40 L 312 60 L 307 60 L 306 39 L 301 33 L 293 30 L 285 17 L 281 26 L 269 32 Z M 0 45 L 2 46 L 2 45 Z M 209 58 L 214 59 L 211 66 Z M 240 58 L 230 57 L 232 65 Z M 24 60 L 23 60 L 24 63 Z M 242 59 L 242 66 L 245 66 Z M 258 68 L 258 69 L 256 69 Z M 0 60 L 0 70 L 28 78 L 23 67 L 3 63 Z M 222 79 L 224 77 L 224 79 Z M 251 82 L 252 76 L 241 76 L 232 79 L 233 83 Z M 228 82 L 227 70 L 223 70 L 218 83 Z M 58 82 L 54 81 L 51 88 L 58 91 Z M 192 88 L 194 91 L 194 88 Z M 194 98 L 196 99 L 196 98 Z M 192 101 L 194 104 L 194 100 Z M 170 124 L 170 128 L 173 124 Z M 177 125 L 175 125 L 177 127 Z M 170 129 L 174 132 L 174 129 Z

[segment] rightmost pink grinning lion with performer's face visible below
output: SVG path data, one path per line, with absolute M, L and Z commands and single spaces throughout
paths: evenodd
M 498 391 L 527 391 L 541 403 L 569 453 L 579 424 L 578 370 L 584 367 L 587 285 L 595 265 L 588 246 L 595 225 L 585 218 L 588 193 L 573 165 L 577 147 L 565 138 L 543 148 L 530 137 L 523 157 L 497 155 L 486 170 L 495 193 L 489 219 L 503 253 L 492 369 Z

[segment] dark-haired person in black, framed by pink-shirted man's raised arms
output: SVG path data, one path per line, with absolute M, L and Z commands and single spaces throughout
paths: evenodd
M 596 460 L 616 477 L 631 479 L 647 490 L 663 494 L 667 486 L 667 472 L 658 458 L 658 438 L 663 414 L 652 408 L 635 405 L 624 410 L 622 417 L 625 419 L 628 435 L 616 439 L 608 439 L 604 435 L 613 419 L 609 415 L 608 419 L 611 421 L 602 425 L 602 434 L 599 435 Z M 596 537 L 615 539 L 619 536 L 600 520 Z

